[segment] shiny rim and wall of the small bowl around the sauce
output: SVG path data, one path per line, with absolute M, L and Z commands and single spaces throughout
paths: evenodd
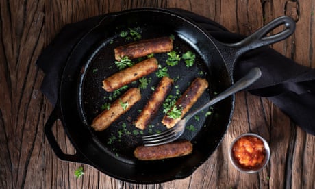
M 264 144 L 264 149 L 265 149 L 264 160 L 262 160 L 262 163 L 259 166 L 255 166 L 255 168 L 245 168 L 244 166 L 241 166 L 238 163 L 238 160 L 236 160 L 236 158 L 234 157 L 234 153 L 233 153 L 234 144 L 236 144 L 236 142 L 238 140 L 240 140 L 240 138 L 242 138 L 244 136 L 256 137 L 256 138 L 262 140 L 262 142 Z M 270 147 L 269 147 L 269 144 L 268 144 L 268 142 L 266 142 L 266 140 L 264 140 L 264 138 L 262 138 L 261 136 L 259 136 L 257 134 L 247 133 L 247 134 L 242 134 L 242 135 L 238 136 L 236 139 L 234 139 L 234 141 L 232 142 L 231 147 L 229 149 L 229 160 L 231 160 L 231 164 L 233 164 L 233 166 L 236 169 L 238 169 L 238 171 L 241 171 L 243 173 L 257 173 L 257 172 L 261 171 L 268 164 L 269 159 L 270 159 Z

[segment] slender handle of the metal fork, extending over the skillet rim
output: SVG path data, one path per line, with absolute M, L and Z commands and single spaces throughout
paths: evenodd
M 247 88 L 253 82 L 255 82 L 257 79 L 262 76 L 262 71 L 260 71 L 260 68 L 252 68 L 247 75 L 239 79 L 235 84 L 231 85 L 229 88 L 227 88 L 225 91 L 221 92 L 219 95 L 211 99 L 208 103 L 205 105 L 202 105 L 197 110 L 194 110 L 190 114 L 188 114 L 185 117 L 185 121 L 188 121 L 190 118 L 192 118 L 194 115 L 199 113 L 201 110 L 209 107 L 210 105 L 214 105 L 214 103 L 217 103 L 218 101 L 221 101 L 225 99 L 226 97 L 229 97 L 230 95 L 233 95 L 236 92 L 239 92 L 240 90 L 243 90 L 244 88 Z

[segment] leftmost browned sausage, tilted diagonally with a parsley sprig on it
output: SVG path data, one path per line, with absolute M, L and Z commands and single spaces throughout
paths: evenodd
M 129 88 L 119 99 L 110 105 L 109 110 L 104 110 L 93 121 L 92 127 L 95 131 L 103 131 L 108 128 L 116 119 L 125 114 L 136 102 L 140 101 L 139 88 Z

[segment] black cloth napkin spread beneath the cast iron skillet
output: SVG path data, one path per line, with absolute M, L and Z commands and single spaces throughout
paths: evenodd
M 232 43 L 244 38 L 193 12 L 172 10 L 192 19 L 220 42 Z M 95 16 L 64 26 L 38 58 L 36 64 L 45 73 L 40 90 L 53 105 L 58 100 L 60 77 L 69 53 L 103 17 Z M 242 55 L 235 65 L 234 79 L 237 81 L 253 67 L 262 70 L 262 77 L 247 90 L 268 98 L 304 131 L 315 135 L 315 69 L 297 64 L 269 47 L 262 47 Z

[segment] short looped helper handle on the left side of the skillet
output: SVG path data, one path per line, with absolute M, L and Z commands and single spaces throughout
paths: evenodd
M 60 146 L 55 139 L 55 136 L 53 135 L 52 127 L 58 119 L 61 120 L 61 110 L 58 108 L 58 105 L 53 109 L 53 112 L 51 112 L 51 115 L 49 116 L 46 124 L 45 124 L 45 135 L 46 138 L 51 145 L 51 148 L 55 152 L 55 155 L 57 155 L 60 160 L 69 161 L 69 162 L 78 162 L 83 164 L 88 164 L 86 159 L 76 150 L 75 154 L 65 154 L 62 152 L 62 149 L 60 149 Z

